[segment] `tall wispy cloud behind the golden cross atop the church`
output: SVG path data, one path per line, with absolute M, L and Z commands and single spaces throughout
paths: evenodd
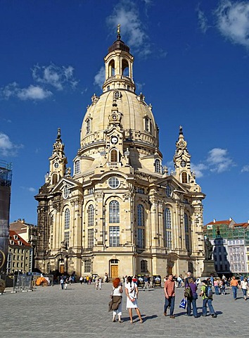
M 112 30 L 117 27 L 117 24 L 121 25 L 121 37 L 127 39 L 127 45 L 130 46 L 136 54 L 141 54 L 142 56 L 151 54 L 151 45 L 148 35 L 141 23 L 139 11 L 133 1 L 121 0 L 113 9 L 113 14 L 107 18 L 107 23 Z

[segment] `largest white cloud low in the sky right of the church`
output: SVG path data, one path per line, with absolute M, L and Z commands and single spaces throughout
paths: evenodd
M 234 166 L 234 161 L 228 156 L 226 149 L 214 148 L 208 152 L 207 163 L 210 171 L 222 173 Z

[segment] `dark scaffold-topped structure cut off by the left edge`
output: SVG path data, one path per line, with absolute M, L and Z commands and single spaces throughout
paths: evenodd
M 12 165 L 0 161 L 0 274 L 6 273 Z

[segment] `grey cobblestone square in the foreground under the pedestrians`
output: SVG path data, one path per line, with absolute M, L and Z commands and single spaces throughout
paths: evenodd
M 33 292 L 11 293 L 10 289 L 0 295 L 1 338 L 22 337 L 246 337 L 248 336 L 248 301 L 241 290 L 234 301 L 229 289 L 225 296 L 215 296 L 213 306 L 217 318 L 188 317 L 179 308 L 184 288 L 177 289 L 175 315 L 172 319 L 163 315 L 163 288 L 143 292 L 139 289 L 139 308 L 143 323 L 134 311 L 134 323 L 129 323 L 126 296 L 123 296 L 123 323 L 113 323 L 108 312 L 112 284 L 72 284 L 66 290 L 58 285 L 37 287 Z M 198 315 L 202 300 L 198 299 Z

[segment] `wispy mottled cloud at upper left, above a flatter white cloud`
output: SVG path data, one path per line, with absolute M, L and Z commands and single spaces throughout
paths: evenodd
M 42 84 L 49 84 L 57 90 L 63 90 L 66 86 L 75 88 L 78 81 L 73 76 L 74 68 L 72 65 L 59 67 L 58 65 L 35 65 L 32 68 L 32 77 L 35 81 Z

